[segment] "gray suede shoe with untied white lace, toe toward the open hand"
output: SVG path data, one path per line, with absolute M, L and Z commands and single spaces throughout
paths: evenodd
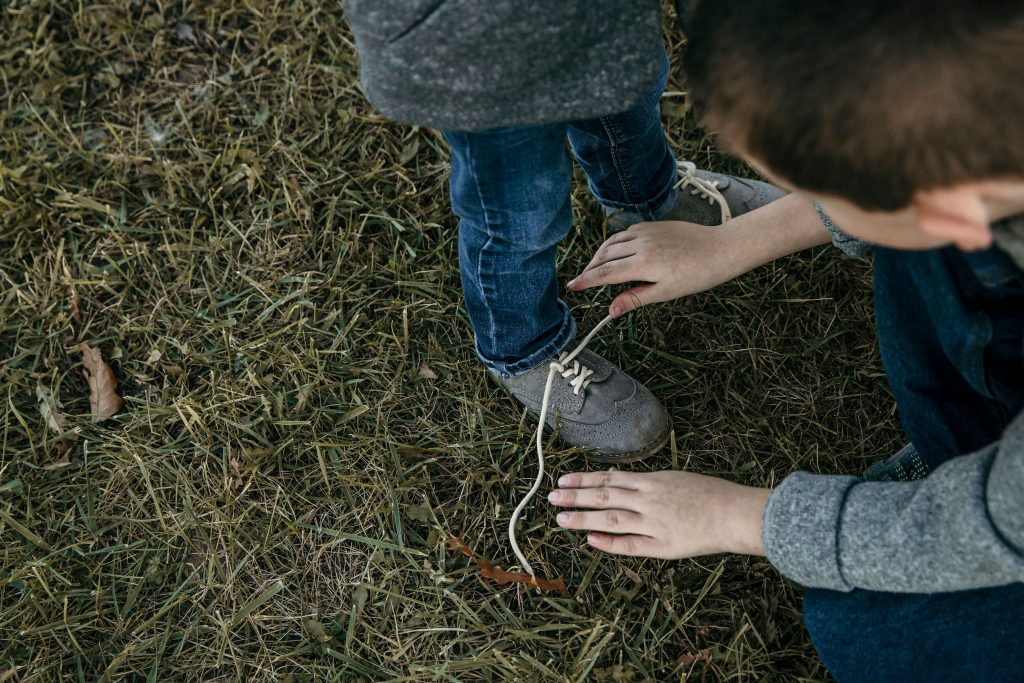
M 530 413 L 540 414 L 548 362 L 524 375 L 495 379 Z M 668 442 L 672 429 L 668 412 L 647 387 L 589 349 L 555 375 L 547 423 L 566 443 L 591 451 L 587 457 L 598 463 L 646 458 Z

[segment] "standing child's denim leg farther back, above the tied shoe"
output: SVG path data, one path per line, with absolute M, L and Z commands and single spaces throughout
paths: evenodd
M 660 98 L 669 57 L 646 97 L 622 114 L 573 121 L 569 144 L 591 194 L 608 209 L 656 220 L 675 206 L 676 160 L 662 128 Z

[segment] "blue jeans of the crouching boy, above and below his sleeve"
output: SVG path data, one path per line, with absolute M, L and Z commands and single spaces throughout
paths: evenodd
M 877 249 L 873 274 L 883 362 L 926 468 L 998 439 L 1024 410 L 1024 273 L 998 248 L 950 247 Z M 804 617 L 840 683 L 1024 681 L 1022 584 L 916 595 L 808 589 Z

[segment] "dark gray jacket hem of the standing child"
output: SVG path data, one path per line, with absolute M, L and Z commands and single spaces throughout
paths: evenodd
M 625 112 L 664 47 L 658 0 L 342 0 L 367 98 L 395 121 L 483 130 Z

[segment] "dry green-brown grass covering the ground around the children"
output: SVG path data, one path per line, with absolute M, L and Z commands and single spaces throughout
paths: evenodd
M 535 422 L 474 358 L 445 147 L 361 98 L 337 3 L 0 12 L 0 681 L 826 678 L 763 560 L 602 556 L 544 503 L 520 543 L 567 597 L 445 550 L 514 563 Z M 748 172 L 665 101 L 681 156 Z M 564 279 L 602 240 L 573 204 Z M 609 328 L 676 423 L 639 469 L 891 453 L 868 281 L 823 249 Z M 608 300 L 569 297 L 582 330 Z M 99 424 L 83 341 L 125 399 Z

